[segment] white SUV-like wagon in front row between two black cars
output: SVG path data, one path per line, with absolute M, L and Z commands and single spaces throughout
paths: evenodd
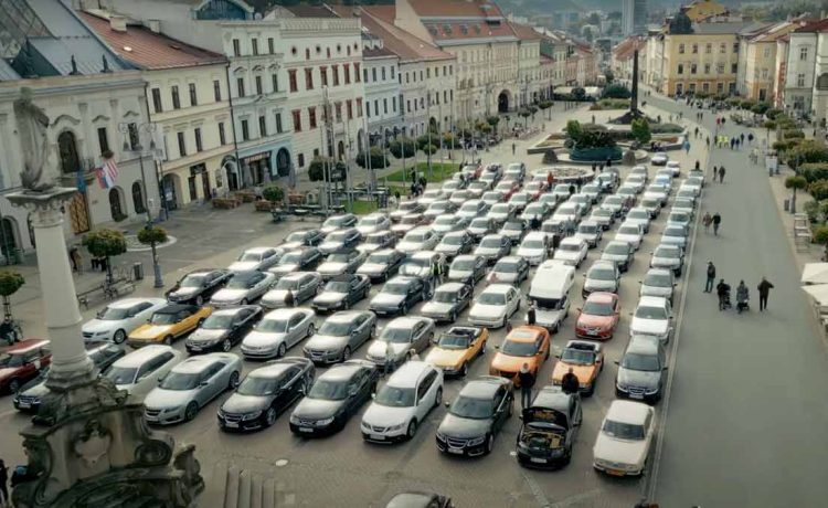
M 411 440 L 442 402 L 443 371 L 423 361 L 406 361 L 362 415 L 362 438 L 375 443 Z

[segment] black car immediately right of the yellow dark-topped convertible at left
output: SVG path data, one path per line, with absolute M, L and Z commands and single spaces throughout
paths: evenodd
M 230 351 L 262 318 L 262 307 L 243 305 L 213 311 L 184 341 L 187 352 Z

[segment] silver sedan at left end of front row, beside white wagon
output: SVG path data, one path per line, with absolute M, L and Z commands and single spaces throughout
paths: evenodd
M 144 400 L 144 419 L 157 425 L 189 422 L 210 401 L 238 385 L 242 359 L 230 352 L 191 357 L 170 370 Z

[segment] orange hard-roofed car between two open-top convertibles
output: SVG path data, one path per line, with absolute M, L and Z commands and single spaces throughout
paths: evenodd
M 520 326 L 506 336 L 503 343 L 497 349 L 489 373 L 509 378 L 516 387 L 520 387 L 518 372 L 523 363 L 529 363 L 529 371 L 537 378 L 541 366 L 549 358 L 549 330 L 539 326 Z

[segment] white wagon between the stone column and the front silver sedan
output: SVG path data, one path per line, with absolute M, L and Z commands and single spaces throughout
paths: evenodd
M 113 363 L 105 375 L 118 390 L 142 400 L 182 359 L 181 351 L 170 346 L 150 345 Z

